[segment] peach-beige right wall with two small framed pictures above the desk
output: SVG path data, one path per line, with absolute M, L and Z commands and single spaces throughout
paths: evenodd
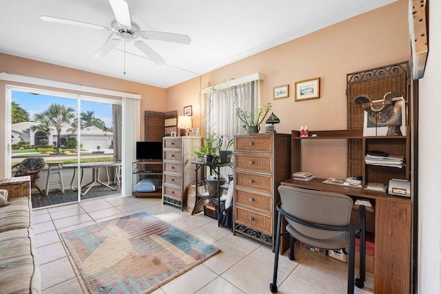
M 300 125 L 311 130 L 346 129 L 346 74 L 409 60 L 407 5 L 400 0 L 170 87 L 167 105 L 176 105 L 182 114 L 183 106 L 198 105 L 198 92 L 208 83 L 260 72 L 265 74 L 260 105 L 272 103 L 280 118 L 279 133 L 291 134 Z M 294 83 L 309 78 L 320 78 L 320 98 L 295 102 Z M 273 87 L 285 84 L 289 98 L 273 100 Z M 203 118 L 193 118 L 195 126 L 203 126 Z M 332 145 L 308 144 L 303 169 L 323 178 L 346 176 L 346 143 L 336 140 Z

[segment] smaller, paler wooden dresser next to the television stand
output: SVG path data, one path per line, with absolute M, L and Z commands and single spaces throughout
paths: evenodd
M 201 147 L 201 144 L 201 137 L 163 138 L 163 203 L 184 210 L 187 204 L 187 187 L 196 182 L 189 151 Z

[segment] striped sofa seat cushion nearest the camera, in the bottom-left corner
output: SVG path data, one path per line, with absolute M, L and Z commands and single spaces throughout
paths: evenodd
M 0 233 L 0 269 L 1 293 L 40 293 L 41 273 L 32 229 Z

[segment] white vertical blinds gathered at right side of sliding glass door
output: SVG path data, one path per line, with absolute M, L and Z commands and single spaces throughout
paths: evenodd
M 141 101 L 134 98 L 123 97 L 123 121 L 122 127 L 122 156 L 123 166 L 121 172 L 123 175 L 123 183 L 121 194 L 123 196 L 131 195 L 134 176 L 132 174 L 132 162 L 136 160 L 136 141 L 139 141 L 139 129 L 141 115 Z

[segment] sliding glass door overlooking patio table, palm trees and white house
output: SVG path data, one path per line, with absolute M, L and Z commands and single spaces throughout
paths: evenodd
M 10 96 L 12 176 L 45 163 L 34 208 L 121 193 L 121 101 L 21 87 Z

